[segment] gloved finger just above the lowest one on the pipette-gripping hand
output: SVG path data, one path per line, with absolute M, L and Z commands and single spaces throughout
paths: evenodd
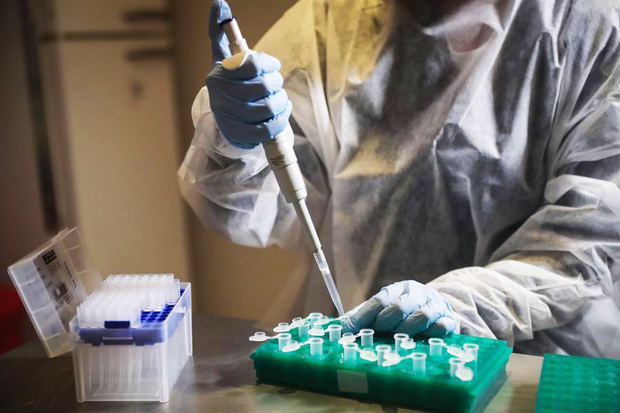
M 286 91 L 269 95 L 254 102 L 232 98 L 225 91 L 214 90 L 216 99 L 211 99 L 211 109 L 219 116 L 221 112 L 245 123 L 265 122 L 286 110 L 288 96 Z

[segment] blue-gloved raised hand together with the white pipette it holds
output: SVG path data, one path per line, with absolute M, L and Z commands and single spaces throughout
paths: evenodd
M 295 208 L 332 302 L 342 315 L 340 295 L 305 202 L 306 185 L 288 124 L 292 105 L 282 89 L 280 62 L 248 48 L 225 1 L 212 3 L 209 36 L 215 67 L 206 83 L 218 127 L 236 147 L 252 149 L 263 144 L 280 190 Z

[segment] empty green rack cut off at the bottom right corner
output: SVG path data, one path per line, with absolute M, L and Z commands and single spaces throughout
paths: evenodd
M 545 354 L 536 413 L 620 413 L 620 360 Z

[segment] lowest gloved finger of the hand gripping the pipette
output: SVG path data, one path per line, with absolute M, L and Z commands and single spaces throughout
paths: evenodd
M 275 117 L 260 123 L 246 123 L 224 113 L 218 112 L 215 120 L 224 136 L 231 142 L 242 145 L 252 145 L 253 148 L 259 143 L 263 143 L 276 136 L 284 130 L 288 118 L 293 110 L 290 101 L 287 102 L 284 112 Z

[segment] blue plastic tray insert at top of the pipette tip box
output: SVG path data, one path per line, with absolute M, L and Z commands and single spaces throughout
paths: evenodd
M 175 311 L 185 291 L 181 289 L 177 302 L 166 305 L 162 311 L 142 311 L 138 327 L 131 327 L 126 320 L 110 320 L 104 323 L 103 328 L 80 328 L 80 338 L 93 346 L 162 343 L 172 336 L 185 315 L 184 311 Z

